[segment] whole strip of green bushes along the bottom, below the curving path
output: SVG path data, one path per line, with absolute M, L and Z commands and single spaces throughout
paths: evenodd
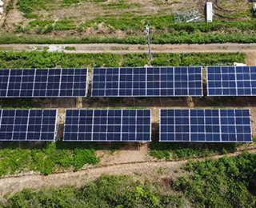
M 2 207 L 254 207 L 256 154 L 190 161 L 178 178 L 159 169 L 155 178 L 105 175 L 86 186 L 23 189 Z M 144 182 L 142 182 L 144 181 Z

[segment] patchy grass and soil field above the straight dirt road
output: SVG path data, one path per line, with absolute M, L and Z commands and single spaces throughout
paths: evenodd
M 190 4 L 171 0 L 18 0 L 17 5 L 12 2 L 0 32 L 0 43 L 145 44 L 146 25 L 152 28 L 152 43 L 256 41 L 253 4 L 244 1 L 232 0 L 218 5 L 211 24 L 174 22 L 174 12 L 190 9 L 187 5 L 198 7 L 204 17 L 205 7 L 200 1 Z M 236 10 L 239 12 L 234 12 Z

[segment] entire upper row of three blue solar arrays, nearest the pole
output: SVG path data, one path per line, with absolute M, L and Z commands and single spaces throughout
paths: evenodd
M 87 69 L 0 70 L 0 97 L 85 97 Z M 208 96 L 256 95 L 256 66 L 207 67 Z M 94 68 L 92 97 L 202 96 L 201 67 Z

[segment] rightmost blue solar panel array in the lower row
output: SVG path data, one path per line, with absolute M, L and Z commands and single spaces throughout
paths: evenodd
M 249 109 L 160 110 L 161 142 L 252 142 Z

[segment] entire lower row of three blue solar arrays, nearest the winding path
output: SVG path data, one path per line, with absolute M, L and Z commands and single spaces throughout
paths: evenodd
M 54 141 L 57 110 L 0 110 L 0 141 Z M 66 110 L 64 141 L 150 142 L 151 110 Z M 160 142 L 252 142 L 248 109 L 160 110 Z

